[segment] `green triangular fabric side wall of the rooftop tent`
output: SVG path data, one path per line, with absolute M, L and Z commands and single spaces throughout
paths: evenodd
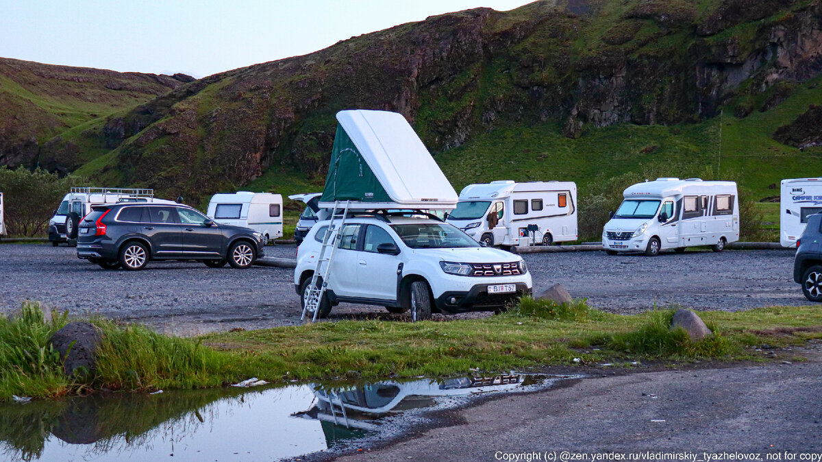
M 337 126 L 320 202 L 392 202 L 342 125 Z

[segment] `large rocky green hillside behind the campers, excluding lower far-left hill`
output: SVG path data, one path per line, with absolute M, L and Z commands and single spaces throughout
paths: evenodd
M 387 109 L 458 191 L 566 179 L 594 194 L 629 172 L 710 169 L 759 199 L 820 174 L 820 71 L 820 0 L 543 0 L 192 81 L 41 151 L 85 161 L 77 173 L 96 182 L 195 204 L 240 187 L 307 192 L 325 178 L 335 113 Z

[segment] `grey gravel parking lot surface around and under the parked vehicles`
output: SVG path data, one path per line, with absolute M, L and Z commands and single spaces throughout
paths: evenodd
M 291 245 L 267 247 L 267 256 L 293 258 Z M 559 282 L 574 297 L 609 312 L 632 313 L 681 304 L 737 311 L 806 305 L 792 280 L 793 251 L 727 251 L 606 256 L 604 252 L 524 256 L 539 291 Z M 39 300 L 72 314 L 138 321 L 159 331 L 193 335 L 235 327 L 298 324 L 293 270 L 256 266 L 210 269 L 198 262 L 152 262 L 146 270 L 102 270 L 76 258 L 72 247 L 0 245 L 0 311 Z M 380 307 L 340 305 L 332 319 L 390 315 Z M 489 316 L 487 313 L 468 314 Z M 453 319 L 449 316 L 446 319 Z

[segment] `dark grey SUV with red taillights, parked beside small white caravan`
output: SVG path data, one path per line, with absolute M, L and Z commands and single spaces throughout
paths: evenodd
M 77 257 L 112 270 L 141 270 L 150 260 L 247 268 L 264 255 L 264 239 L 253 229 L 215 223 L 189 206 L 95 206 L 78 226 Z

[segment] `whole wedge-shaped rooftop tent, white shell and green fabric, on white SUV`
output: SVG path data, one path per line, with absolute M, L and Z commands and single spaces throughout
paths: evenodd
M 337 113 L 337 133 L 320 206 L 353 209 L 453 209 L 454 187 L 399 113 Z

